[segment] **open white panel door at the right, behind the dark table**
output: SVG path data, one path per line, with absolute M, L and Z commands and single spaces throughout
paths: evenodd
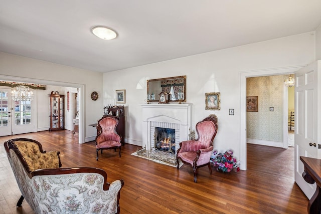
M 310 199 L 315 191 L 315 183 L 308 184 L 302 177 L 304 171 L 300 156 L 320 158 L 317 108 L 320 102 L 320 62 L 317 61 L 296 72 L 295 81 L 295 182 Z M 315 144 L 314 144 L 315 143 Z

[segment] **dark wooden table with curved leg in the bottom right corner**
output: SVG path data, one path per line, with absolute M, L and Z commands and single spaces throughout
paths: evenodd
M 302 176 L 308 183 L 316 183 L 316 190 L 307 204 L 308 213 L 321 213 L 321 159 L 300 156 L 304 164 Z

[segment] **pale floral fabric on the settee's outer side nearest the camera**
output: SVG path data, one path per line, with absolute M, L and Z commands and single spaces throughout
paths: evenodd
M 32 178 L 39 207 L 37 213 L 116 213 L 120 180 L 102 190 L 98 173 L 42 175 Z

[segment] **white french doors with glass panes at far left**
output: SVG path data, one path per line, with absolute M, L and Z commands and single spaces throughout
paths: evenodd
M 0 136 L 35 131 L 33 101 L 14 101 L 11 89 L 0 88 Z

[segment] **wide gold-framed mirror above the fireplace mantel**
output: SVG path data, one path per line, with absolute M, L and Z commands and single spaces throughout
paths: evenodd
M 149 102 L 159 102 L 161 92 L 170 93 L 169 102 L 186 102 L 186 76 L 147 80 Z

